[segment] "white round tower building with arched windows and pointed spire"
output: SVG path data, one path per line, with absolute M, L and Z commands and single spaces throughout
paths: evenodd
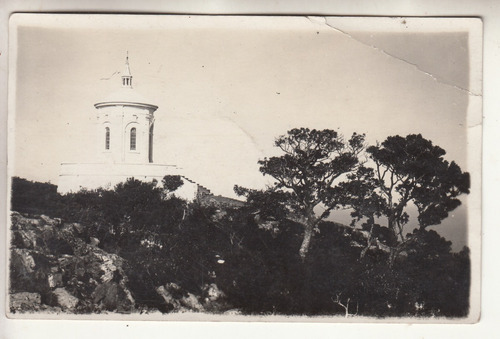
M 158 106 L 149 103 L 133 88 L 128 56 L 121 84 L 95 107 L 97 150 L 93 163 L 62 163 L 58 191 L 65 194 L 81 189 L 113 188 L 135 178 L 161 184 L 165 175 L 181 175 L 175 165 L 153 162 L 154 121 Z M 175 192 L 181 198 L 194 200 L 210 192 L 185 178 Z

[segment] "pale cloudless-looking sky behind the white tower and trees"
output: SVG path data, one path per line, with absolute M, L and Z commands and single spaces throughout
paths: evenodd
M 294 127 L 366 133 L 372 144 L 421 133 L 472 171 L 480 74 L 467 25 L 359 20 L 17 18 L 11 173 L 57 184 L 61 162 L 92 162 L 102 146 L 89 140 L 93 105 L 120 86 L 126 51 L 135 90 L 159 106 L 154 162 L 215 194 L 263 187 L 257 161 Z M 461 207 L 442 227 L 454 248 L 465 215 Z

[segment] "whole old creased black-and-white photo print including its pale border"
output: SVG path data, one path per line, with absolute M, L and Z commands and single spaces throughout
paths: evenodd
M 8 317 L 478 321 L 480 19 L 9 25 Z

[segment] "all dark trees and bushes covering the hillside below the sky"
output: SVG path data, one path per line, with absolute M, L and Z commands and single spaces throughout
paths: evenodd
M 172 177 L 67 195 L 13 178 L 12 295 L 35 293 L 47 307 L 83 313 L 468 314 L 469 250 L 454 253 L 427 229 L 469 191 L 468 173 L 444 150 L 420 135 L 365 149 L 363 135 L 305 128 L 276 145 L 283 155 L 259 162 L 276 183 L 236 187 L 242 207 L 179 199 Z M 338 208 L 352 211 L 351 225 L 332 221 Z M 404 234 L 405 224 L 414 230 Z M 109 261 L 112 278 L 102 268 Z

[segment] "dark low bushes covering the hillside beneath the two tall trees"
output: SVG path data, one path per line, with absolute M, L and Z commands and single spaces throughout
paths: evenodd
M 381 249 L 361 255 L 359 229 L 322 222 L 304 260 L 297 251 L 302 226 L 286 218 L 263 223 L 251 203 L 188 203 L 134 179 L 112 190 L 65 196 L 54 185 L 19 178 L 12 187 L 13 210 L 79 222 L 87 242 L 97 238 L 99 247 L 124 258 L 138 308 L 168 312 L 156 289 L 174 283 L 179 293 L 198 296 L 215 284 L 227 307 L 248 314 L 345 315 L 346 308 L 351 315 L 379 317 L 468 312 L 468 250 L 451 252 L 451 243 L 434 231 L 408 235 L 392 260 Z M 384 227 L 372 230 L 384 239 Z M 60 255 L 70 250 L 62 243 L 48 246 Z M 11 272 L 13 280 L 22 277 Z M 35 283 L 23 280 L 22 286 Z

